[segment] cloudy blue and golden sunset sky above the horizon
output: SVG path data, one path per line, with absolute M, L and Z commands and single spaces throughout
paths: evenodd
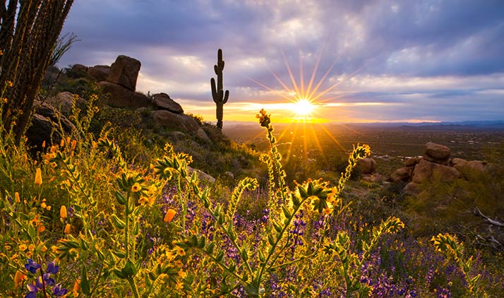
M 60 67 L 131 56 L 138 91 L 205 121 L 222 49 L 224 125 L 262 108 L 274 122 L 504 120 L 502 0 L 76 0 L 66 32 L 80 41 Z

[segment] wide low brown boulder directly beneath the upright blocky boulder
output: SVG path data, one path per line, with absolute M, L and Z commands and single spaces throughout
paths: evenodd
M 116 83 L 100 82 L 98 85 L 102 86 L 103 93 L 109 93 L 107 104 L 111 107 L 138 109 L 139 107 L 151 105 L 149 97 L 142 93 L 133 92 Z

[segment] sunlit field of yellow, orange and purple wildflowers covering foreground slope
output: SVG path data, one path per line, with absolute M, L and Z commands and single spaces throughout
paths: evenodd
M 124 153 L 111 126 L 90 133 L 93 102 L 85 113 L 73 107 L 74 135 L 37 156 L 2 129 L 1 297 L 499 297 L 504 291 L 499 253 L 464 247 L 457 231 L 419 237 L 399 215 L 365 216 L 386 207 L 356 202 L 344 187 L 357 160 L 371 154 L 368 145 L 354 146 L 335 181 L 293 181 L 270 114 L 261 110 L 269 149 L 257 162 L 265 178 L 210 183 L 188 170 L 192 157 L 176 144 L 140 158 L 141 145 L 136 154 Z M 138 143 L 130 136 L 129 147 Z

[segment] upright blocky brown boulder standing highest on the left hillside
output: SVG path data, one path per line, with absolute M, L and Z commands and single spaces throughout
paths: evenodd
M 137 59 L 124 55 L 117 56 L 116 61 L 110 66 L 107 81 L 135 91 L 140 66 L 140 61 Z

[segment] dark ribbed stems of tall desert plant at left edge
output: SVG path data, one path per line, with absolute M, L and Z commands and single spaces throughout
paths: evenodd
M 73 0 L 7 0 L 0 3 L 0 86 L 8 98 L 1 125 L 19 143 Z M 19 7 L 18 7 L 19 5 Z M 16 14 L 17 11 L 17 14 Z

